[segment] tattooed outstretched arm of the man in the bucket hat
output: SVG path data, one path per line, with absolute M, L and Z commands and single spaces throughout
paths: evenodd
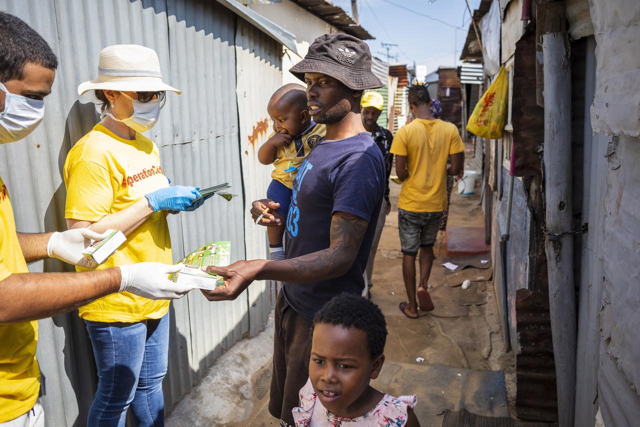
M 344 275 L 353 266 L 369 222 L 346 212 L 333 214 L 331 243 L 326 249 L 283 261 L 238 261 L 207 271 L 225 278 L 224 287 L 202 291 L 209 301 L 234 300 L 253 280 L 317 282 Z

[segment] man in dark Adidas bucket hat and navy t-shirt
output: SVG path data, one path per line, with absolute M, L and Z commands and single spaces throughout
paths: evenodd
M 211 301 L 232 300 L 253 280 L 284 282 L 276 303 L 276 330 L 269 412 L 283 426 L 308 378 L 312 320 L 337 294 L 362 294 L 363 273 L 385 191 L 385 163 L 360 118 L 364 89 L 382 83 L 371 72 L 369 47 L 353 36 L 316 38 L 291 73 L 307 84 L 310 114 L 326 136 L 300 166 L 286 222 L 284 261 L 239 261 L 209 271 L 225 287 L 204 292 Z M 253 202 L 256 223 L 279 223 L 279 205 Z

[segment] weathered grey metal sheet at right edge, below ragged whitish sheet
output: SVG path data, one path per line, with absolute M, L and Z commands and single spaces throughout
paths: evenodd
M 602 271 L 594 273 L 602 273 L 602 282 L 595 289 L 601 289 L 602 294 L 600 300 L 596 300 L 597 294 L 591 295 L 600 305 L 598 405 L 606 426 L 631 426 L 640 419 L 640 139 L 598 134 L 594 140 L 602 144 L 599 152 L 606 150 L 608 155 L 606 162 L 598 165 L 605 169 L 605 193 L 600 202 L 604 211 L 598 212 L 603 221 L 596 224 L 602 227 L 603 262 Z

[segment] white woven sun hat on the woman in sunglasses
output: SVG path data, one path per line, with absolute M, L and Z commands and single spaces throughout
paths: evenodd
M 98 78 L 78 86 L 78 95 L 93 89 L 156 92 L 182 91 L 162 81 L 156 51 L 136 44 L 116 44 L 100 51 Z

